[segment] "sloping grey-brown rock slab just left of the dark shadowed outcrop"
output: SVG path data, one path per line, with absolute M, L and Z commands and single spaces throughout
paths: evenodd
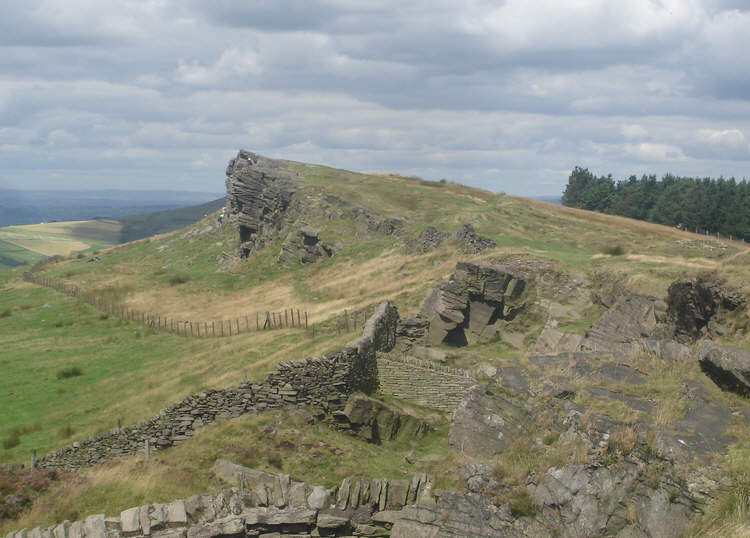
M 620 298 L 584 333 L 581 349 L 630 353 L 633 344 L 667 332 L 667 305 L 656 297 Z

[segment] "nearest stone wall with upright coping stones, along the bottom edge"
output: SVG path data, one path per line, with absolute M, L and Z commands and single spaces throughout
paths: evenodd
M 92 515 L 51 527 L 11 532 L 6 538 L 213 538 L 217 536 L 387 536 L 399 511 L 429 501 L 425 475 L 410 479 L 349 479 L 339 487 L 310 486 L 289 475 L 267 473 L 219 460 L 238 488 L 170 503 Z M 434 501 L 433 501 L 434 502 Z

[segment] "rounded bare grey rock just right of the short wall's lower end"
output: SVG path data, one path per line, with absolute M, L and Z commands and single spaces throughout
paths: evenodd
M 497 387 L 477 385 L 453 414 L 448 444 L 469 455 L 493 456 L 504 452 L 528 421 L 519 402 L 503 396 Z

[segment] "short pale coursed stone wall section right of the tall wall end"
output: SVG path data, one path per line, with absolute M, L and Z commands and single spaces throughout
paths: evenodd
M 395 353 L 378 353 L 377 364 L 380 392 L 444 411 L 455 411 L 477 383 L 465 370 Z

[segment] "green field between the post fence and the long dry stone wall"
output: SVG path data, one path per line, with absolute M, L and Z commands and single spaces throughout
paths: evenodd
M 148 418 L 205 387 L 262 378 L 282 360 L 318 354 L 346 335 L 311 340 L 304 331 L 191 339 L 156 332 L 30 285 L 0 291 L 0 436 L 39 422 L 0 450 L 0 463 L 25 461 L 77 437 Z M 60 375 L 61 372 L 67 372 Z M 68 375 L 80 372 L 81 375 Z

